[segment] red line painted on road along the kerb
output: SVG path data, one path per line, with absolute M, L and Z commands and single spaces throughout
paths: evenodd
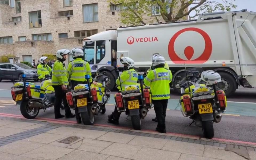
M 2 116 L 2 117 L 10 117 L 10 118 L 26 119 L 26 118 L 24 118 L 22 115 L 16 115 L 16 114 L 0 113 L 0 116 Z M 61 123 L 61 124 L 66 124 L 66 123 L 76 124 L 76 123 L 77 123 L 77 122 L 75 122 L 75 121 L 60 120 L 60 119 L 51 119 L 51 118 L 35 118 L 35 119 L 38 119 L 38 120 L 47 120 L 48 122 L 52 122 L 52 123 Z M 119 129 L 133 129 L 133 128 L 129 128 L 129 127 L 111 126 L 111 125 L 103 125 L 103 124 L 94 124 L 94 126 L 112 127 L 112 128 L 119 128 Z M 153 131 L 153 130 L 142 130 L 142 131 L 157 132 L 157 131 Z M 197 138 L 199 137 L 199 138 L 202 138 L 202 137 L 200 137 L 200 136 L 187 135 L 187 134 L 180 134 L 180 133 L 171 133 L 171 132 L 167 132 L 167 134 L 173 134 L 173 135 L 177 135 L 177 136 L 181 135 L 181 136 L 197 137 Z M 235 140 L 231 140 L 231 139 L 212 138 L 212 140 L 219 141 L 219 142 L 231 142 L 231 143 L 241 143 L 241 144 L 248 144 L 248 145 L 256 145 L 256 143 L 254 143 L 254 142 L 235 141 Z

